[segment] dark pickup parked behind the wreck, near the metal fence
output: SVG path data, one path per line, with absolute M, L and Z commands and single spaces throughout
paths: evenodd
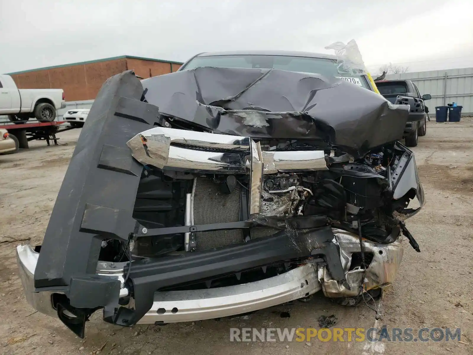
M 420 96 L 419 89 L 412 80 L 379 80 L 376 86 L 387 100 L 393 104 L 410 106 L 409 121 L 404 130 L 405 142 L 408 147 L 417 146 L 419 136 L 427 133 L 426 115 L 429 109 L 424 101 L 430 100 L 430 94 Z

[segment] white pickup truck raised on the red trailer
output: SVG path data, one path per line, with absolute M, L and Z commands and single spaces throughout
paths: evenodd
M 14 123 L 35 117 L 39 122 L 52 122 L 56 110 L 64 108 L 62 89 L 18 89 L 7 74 L 0 74 L 0 115 L 8 115 Z

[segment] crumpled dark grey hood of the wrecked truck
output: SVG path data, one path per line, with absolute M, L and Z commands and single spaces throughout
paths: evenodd
M 142 80 L 159 112 L 215 133 L 323 140 L 363 155 L 402 139 L 409 115 L 381 95 L 318 74 L 203 67 Z

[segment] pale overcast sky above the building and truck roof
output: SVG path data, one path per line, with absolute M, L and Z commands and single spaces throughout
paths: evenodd
M 0 0 L 0 72 L 118 55 L 332 53 L 355 39 L 368 70 L 473 67 L 471 0 Z

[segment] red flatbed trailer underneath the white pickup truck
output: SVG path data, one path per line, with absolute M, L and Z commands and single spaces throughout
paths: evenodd
M 67 121 L 53 121 L 53 122 L 32 122 L 24 124 L 0 124 L 1 128 L 8 131 L 10 136 L 15 136 L 18 140 L 18 148 L 28 149 L 29 141 L 46 141 L 50 145 L 50 141 L 54 142 L 54 145 L 58 145 L 59 138 L 56 137 L 56 133 L 69 131 L 76 127 L 66 126 L 60 128 L 61 124 Z

